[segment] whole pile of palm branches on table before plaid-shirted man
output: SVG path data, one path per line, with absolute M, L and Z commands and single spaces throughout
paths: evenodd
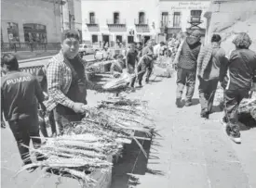
M 88 110 L 87 117 L 74 122 L 64 135 L 46 138 L 47 143 L 32 149 L 47 159 L 26 165 L 24 169 L 41 167 L 61 176 L 69 176 L 93 186 L 96 181 L 91 174 L 96 169 L 108 171 L 112 168 L 110 156 L 121 154 L 123 144 L 134 140 L 147 157 L 135 132 L 153 134 L 155 124 L 149 118 L 147 103 L 123 97 L 101 101 L 97 107 Z M 20 172 L 19 171 L 19 172 Z

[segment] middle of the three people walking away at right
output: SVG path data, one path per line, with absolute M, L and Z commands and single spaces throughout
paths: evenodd
M 225 51 L 221 48 L 222 37 L 213 34 L 211 44 L 202 46 L 197 59 L 197 78 L 199 80 L 199 101 L 201 117 L 209 119 L 214 95 L 218 86 L 221 67 L 227 63 Z

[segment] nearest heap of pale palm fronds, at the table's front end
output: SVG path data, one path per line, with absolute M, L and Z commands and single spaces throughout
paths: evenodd
M 94 133 L 47 138 L 46 144 L 32 149 L 32 153 L 39 153 L 47 159 L 24 166 L 18 174 L 24 169 L 41 167 L 62 176 L 74 177 L 91 186 L 95 180 L 90 174 L 96 169 L 111 169 L 112 162 L 107 158 L 117 155 L 121 148 L 122 145 L 115 142 L 115 139 L 107 135 L 100 137 Z

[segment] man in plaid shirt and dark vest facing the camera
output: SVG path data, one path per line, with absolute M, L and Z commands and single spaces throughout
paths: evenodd
M 63 31 L 61 51 L 47 64 L 47 110 L 54 109 L 60 133 L 63 122 L 79 121 L 87 110 L 87 89 L 101 91 L 101 86 L 88 81 L 86 62 L 78 56 L 79 33 Z

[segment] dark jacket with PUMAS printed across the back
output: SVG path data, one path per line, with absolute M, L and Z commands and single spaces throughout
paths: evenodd
M 37 116 L 37 101 L 44 101 L 39 82 L 27 72 L 11 71 L 2 77 L 1 109 L 7 121 Z

